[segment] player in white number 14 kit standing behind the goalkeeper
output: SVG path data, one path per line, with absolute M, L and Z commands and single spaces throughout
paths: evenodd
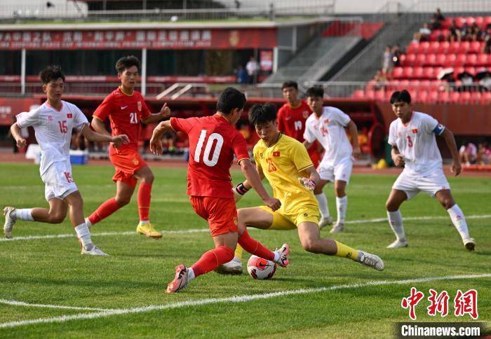
M 322 88 L 312 87 L 307 90 L 307 104 L 314 113 L 311 113 L 305 122 L 304 145 L 309 148 L 314 141 L 318 140 L 325 150 L 317 168 L 321 181 L 314 190 L 314 196 L 322 214 L 319 226 L 323 228 L 332 223 L 328 199 L 323 193 L 323 188 L 328 182 L 334 181 L 337 222 L 332 226 L 330 233 L 337 233 L 344 228 L 348 207 L 346 186 L 351 177 L 353 155 L 358 157 L 361 151 L 358 145 L 358 130 L 354 121 L 340 109 L 330 106 L 323 107 L 323 97 Z M 353 147 L 349 143 L 345 128 L 351 135 Z

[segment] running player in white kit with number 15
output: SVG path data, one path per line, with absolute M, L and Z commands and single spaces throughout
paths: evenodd
M 36 140 L 41 148 L 39 172 L 45 184 L 45 197 L 49 209 L 5 207 L 5 236 L 12 237 L 13 226 L 18 220 L 61 223 L 65 220 L 69 207 L 70 221 L 79 237 L 81 253 L 105 256 L 107 254 L 90 240 L 88 227 L 83 220 L 83 200 L 72 178 L 69 158 L 72 129 L 80 130 L 83 136 L 91 141 L 113 142 L 114 146 L 128 142 L 128 137 L 111 137 L 90 130 L 88 120 L 80 109 L 61 99 L 65 76 L 60 67 L 46 67 L 39 77 L 43 84 L 43 92 L 46 93 L 46 102 L 37 109 L 18 114 L 17 122 L 11 126 L 11 132 L 17 146 L 23 147 L 26 140 L 20 134 L 21 128 L 34 127 Z

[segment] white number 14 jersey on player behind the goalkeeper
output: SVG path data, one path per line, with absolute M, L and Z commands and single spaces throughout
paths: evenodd
M 311 113 L 305 122 L 304 139 L 314 142 L 316 139 L 325 149 L 323 164 L 335 166 L 345 158 L 351 158 L 353 148 L 349 143 L 346 127 L 351 119 L 335 107 L 323 107 L 322 115 Z

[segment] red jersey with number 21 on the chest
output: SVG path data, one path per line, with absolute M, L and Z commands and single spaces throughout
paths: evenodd
M 130 142 L 119 146 L 118 149 L 137 149 L 140 120 L 150 116 L 150 111 L 140 92 L 133 91 L 133 95 L 127 95 L 121 88 L 117 88 L 97 107 L 93 116 L 102 121 L 109 117 L 113 136 L 128 136 Z

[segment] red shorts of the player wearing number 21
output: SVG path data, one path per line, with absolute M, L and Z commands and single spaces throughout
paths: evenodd
M 133 148 L 117 150 L 111 148 L 109 159 L 114 165 L 114 170 L 116 170 L 114 177 L 112 177 L 113 181 L 121 181 L 135 188 L 137 179 L 133 178 L 133 174 L 147 166 L 147 162 L 143 160 L 140 153 Z

